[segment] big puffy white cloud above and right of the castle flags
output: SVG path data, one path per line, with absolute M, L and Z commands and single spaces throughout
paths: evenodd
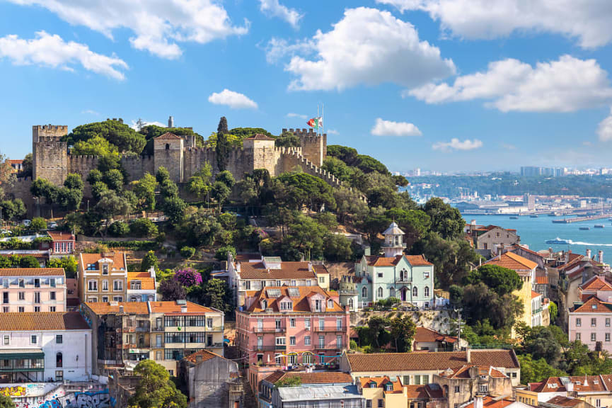
M 453 62 L 443 60 L 438 47 L 419 40 L 412 24 L 376 8 L 347 9 L 332 30 L 319 30 L 311 40 L 293 47 L 298 45 L 312 47 L 316 57 L 291 57 L 285 67 L 297 76 L 289 84 L 291 90 L 340 91 L 381 83 L 414 87 L 455 72 Z M 287 53 L 286 42 L 284 46 Z

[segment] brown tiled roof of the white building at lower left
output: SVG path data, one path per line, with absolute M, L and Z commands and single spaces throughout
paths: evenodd
M 79 312 L 0 313 L 0 331 L 83 329 L 89 326 Z

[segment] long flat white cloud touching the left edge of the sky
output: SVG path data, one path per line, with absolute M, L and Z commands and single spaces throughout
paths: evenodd
M 127 69 L 125 61 L 97 54 L 78 42 L 65 42 L 59 35 L 38 31 L 36 38 L 25 40 L 17 35 L 0 38 L 0 58 L 16 65 L 40 65 L 74 71 L 80 64 L 84 69 L 115 79 L 125 79 L 120 69 Z

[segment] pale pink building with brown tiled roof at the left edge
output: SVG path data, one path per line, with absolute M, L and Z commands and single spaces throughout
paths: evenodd
M 0 269 L 2 312 L 66 312 L 63 268 Z

